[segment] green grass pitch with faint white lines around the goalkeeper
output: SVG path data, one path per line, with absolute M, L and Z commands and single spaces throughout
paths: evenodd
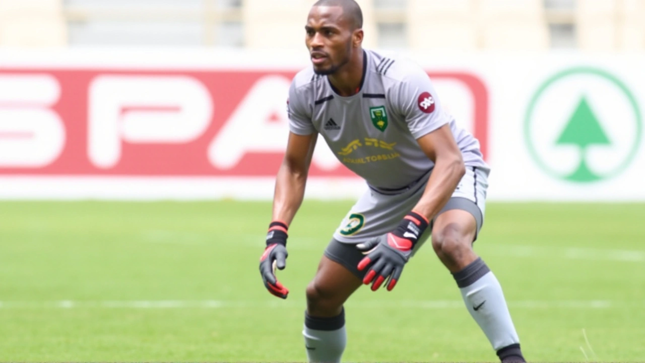
M 304 289 L 351 202 L 306 201 L 287 300 L 258 272 L 270 203 L 0 203 L 0 360 L 304 361 Z M 645 360 L 645 205 L 489 203 L 475 244 L 528 359 Z M 424 246 L 348 304 L 348 361 L 497 360 Z

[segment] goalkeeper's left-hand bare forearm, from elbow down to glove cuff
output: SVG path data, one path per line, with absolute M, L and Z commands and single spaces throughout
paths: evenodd
M 290 225 L 304 199 L 307 171 L 294 170 L 285 161 L 278 171 L 273 196 L 273 220 Z

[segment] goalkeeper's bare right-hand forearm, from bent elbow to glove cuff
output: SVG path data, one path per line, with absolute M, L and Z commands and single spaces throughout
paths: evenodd
M 465 172 L 466 168 L 461 156 L 448 159 L 438 158 L 432 174 L 430 174 L 426 190 L 413 211 L 432 220 L 448 203 Z

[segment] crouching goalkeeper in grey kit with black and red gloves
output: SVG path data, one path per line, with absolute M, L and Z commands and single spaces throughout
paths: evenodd
M 289 91 L 290 135 L 260 262 L 264 285 L 275 296 L 288 295 L 275 268 L 285 267 L 288 226 L 303 201 L 320 135 L 368 188 L 333 234 L 306 289 L 310 362 L 341 360 L 344 302 L 361 284 L 391 291 L 430 236 L 500 360 L 524 362 L 501 286 L 472 248 L 490 172 L 479 141 L 444 111 L 422 68 L 363 50 L 361 28 L 353 0 L 320 0 L 309 13 L 313 67 L 299 72 Z

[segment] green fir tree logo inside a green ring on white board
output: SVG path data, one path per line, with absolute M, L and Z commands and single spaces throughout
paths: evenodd
M 570 87 L 572 84 L 584 85 L 585 82 L 591 82 L 602 87 Z M 571 94 L 571 89 L 579 89 L 580 92 Z M 613 96 L 614 102 L 597 102 L 594 104 L 591 101 L 590 94 L 595 94 L 595 99 L 602 99 L 603 101 L 604 96 L 609 94 Z M 570 99 L 572 102 L 562 98 Z M 570 105 L 576 105 L 573 108 L 573 112 L 570 111 L 570 114 L 563 112 L 560 112 L 561 114 L 557 114 L 557 112 L 540 113 L 538 111 L 540 108 L 542 108 L 542 111 L 550 110 L 553 107 L 553 103 L 566 102 L 570 102 Z M 620 109 L 622 110 L 622 115 L 627 116 L 619 117 L 612 112 L 604 112 L 605 122 L 602 122 L 603 118 L 599 116 L 595 106 L 604 107 L 605 110 L 610 111 L 613 110 L 611 109 L 612 107 Z M 546 118 L 545 115 L 548 115 L 549 118 Z M 544 123 L 553 122 L 561 123 L 561 125 L 559 132 L 553 134 L 552 138 L 545 136 L 545 134 L 535 135 L 539 134 L 537 130 Z M 619 140 L 612 140 L 611 133 L 608 132 L 608 130 L 615 130 L 615 128 L 622 130 L 622 136 Z M 630 90 L 615 76 L 595 68 L 571 68 L 559 72 L 545 81 L 531 99 L 524 119 L 524 138 L 533 160 L 543 171 L 551 176 L 575 183 L 597 182 L 620 174 L 636 156 L 641 136 L 640 110 Z M 539 138 L 541 138 L 542 147 L 537 147 L 538 141 L 536 140 Z M 550 146 L 545 147 L 544 145 Z M 577 150 L 578 155 L 575 167 L 571 167 L 564 172 L 560 170 L 561 168 L 556 167 L 560 166 L 559 164 L 562 162 L 557 160 L 553 153 L 545 152 L 545 148 L 563 147 Z M 622 147 L 624 151 L 622 154 L 620 152 L 612 154 L 612 147 Z M 602 161 L 610 165 L 609 171 L 594 169 L 592 163 L 590 163 L 590 150 L 595 150 L 595 156 L 598 156 L 599 153 L 600 156 L 603 156 L 602 154 L 604 153 Z

